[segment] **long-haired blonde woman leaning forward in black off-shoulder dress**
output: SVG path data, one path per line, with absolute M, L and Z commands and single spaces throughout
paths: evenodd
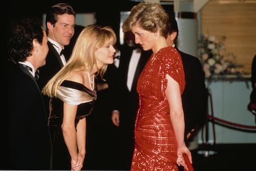
M 67 64 L 48 81 L 43 94 L 51 98 L 49 125 L 55 126 L 53 169 L 81 170 L 85 158 L 86 116 L 96 100 L 95 76 L 113 64 L 116 35 L 111 27 L 88 25 Z

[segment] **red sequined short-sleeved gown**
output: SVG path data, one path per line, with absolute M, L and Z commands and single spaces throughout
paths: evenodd
M 179 83 L 182 93 L 186 84 L 182 60 L 171 46 L 150 57 L 137 83 L 140 107 L 131 170 L 178 170 L 176 137 L 165 94 L 167 74 Z

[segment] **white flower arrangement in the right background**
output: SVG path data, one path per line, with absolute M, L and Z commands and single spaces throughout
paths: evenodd
M 242 65 L 236 64 L 236 56 L 233 53 L 225 51 L 225 40 L 225 36 L 218 41 L 215 36 L 202 35 L 198 48 L 205 78 L 211 78 L 214 75 L 216 77 L 241 75 L 236 68 L 242 67 Z

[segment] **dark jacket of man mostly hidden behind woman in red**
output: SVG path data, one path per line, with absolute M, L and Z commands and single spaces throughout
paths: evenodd
M 179 51 L 179 50 L 178 50 Z M 185 135 L 193 128 L 195 135 L 207 119 L 208 91 L 205 88 L 205 73 L 200 60 L 179 51 L 185 73 L 186 86 L 182 93 L 182 106 L 185 115 Z

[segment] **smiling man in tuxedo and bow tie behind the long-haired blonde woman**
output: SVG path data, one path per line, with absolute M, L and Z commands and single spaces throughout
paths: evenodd
M 75 33 L 75 11 L 69 4 L 56 4 L 48 10 L 45 23 L 49 52 L 46 57 L 46 64 L 39 69 L 38 85 L 40 90 L 61 70 L 68 60 L 64 56 L 64 46 L 70 43 Z M 49 115 L 49 98 L 47 96 L 43 96 L 43 98 L 46 112 Z

